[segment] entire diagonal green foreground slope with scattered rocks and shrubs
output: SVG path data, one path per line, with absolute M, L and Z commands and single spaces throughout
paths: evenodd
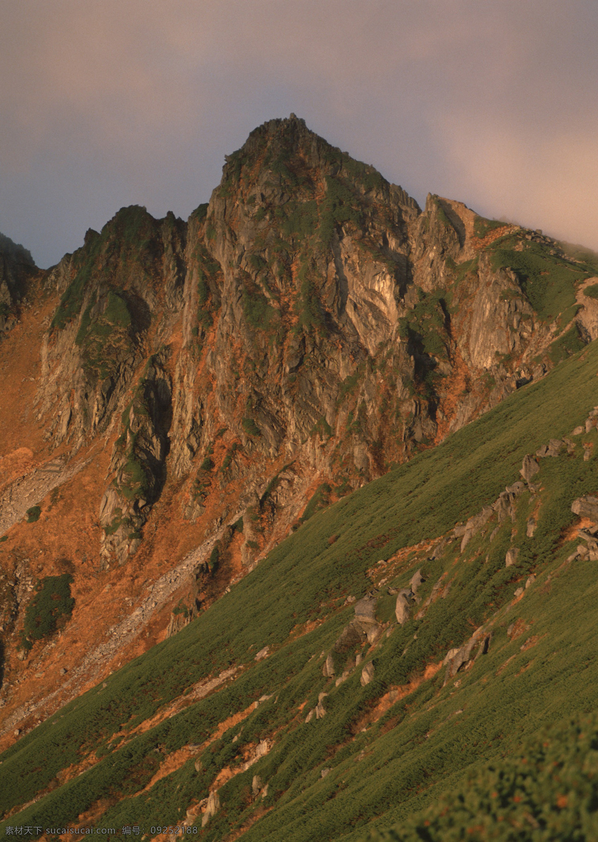
M 315 514 L 22 736 L 0 828 L 592 839 L 597 370 L 590 344 Z

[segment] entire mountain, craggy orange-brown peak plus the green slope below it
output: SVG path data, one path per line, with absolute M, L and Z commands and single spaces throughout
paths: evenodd
M 355 839 L 439 758 L 510 750 L 530 676 L 590 707 L 598 263 L 575 254 L 420 211 L 295 115 L 187 222 L 122 208 L 32 283 L 0 242 L 0 821 Z

